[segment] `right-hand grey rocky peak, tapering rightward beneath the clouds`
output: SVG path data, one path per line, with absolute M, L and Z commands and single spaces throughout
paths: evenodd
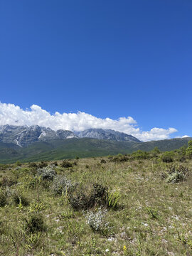
M 82 132 L 76 132 L 80 138 L 109 139 L 116 142 L 140 142 L 139 139 L 123 132 L 117 132 L 112 129 L 86 129 Z

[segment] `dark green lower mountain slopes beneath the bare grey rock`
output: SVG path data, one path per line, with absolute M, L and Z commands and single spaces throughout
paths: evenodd
M 192 138 L 165 139 L 154 142 L 115 142 L 107 139 L 73 138 L 34 142 L 26 147 L 0 143 L 0 163 L 19 161 L 42 161 L 72 159 L 75 156 L 107 156 L 126 154 L 138 149 L 150 151 L 158 146 L 161 151 L 170 151 L 187 145 Z

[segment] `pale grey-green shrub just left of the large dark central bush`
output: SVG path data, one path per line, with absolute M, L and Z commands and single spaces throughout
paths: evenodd
M 58 195 L 61 195 L 63 191 L 68 191 L 72 187 L 73 184 L 65 176 L 57 176 L 53 181 L 53 192 Z

